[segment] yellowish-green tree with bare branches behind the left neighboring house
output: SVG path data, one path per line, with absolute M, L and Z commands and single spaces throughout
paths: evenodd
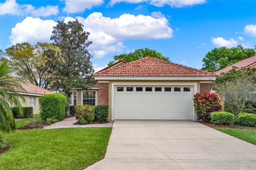
M 47 49 L 58 51 L 51 43 L 38 42 L 36 45 L 30 45 L 24 42 L 7 48 L 6 54 L 10 65 L 18 70 L 18 77 L 44 89 L 50 89 L 53 77 L 46 72 L 46 56 L 43 55 Z

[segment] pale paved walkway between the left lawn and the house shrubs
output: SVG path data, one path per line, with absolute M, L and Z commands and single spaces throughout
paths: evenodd
M 71 128 L 71 127 L 112 127 L 113 121 L 110 121 L 109 123 L 102 123 L 102 124 L 90 124 L 90 125 L 73 125 L 76 123 L 75 117 L 70 117 L 68 119 L 64 119 L 63 121 L 59 121 L 57 123 L 54 123 L 50 126 L 47 126 L 45 128 Z

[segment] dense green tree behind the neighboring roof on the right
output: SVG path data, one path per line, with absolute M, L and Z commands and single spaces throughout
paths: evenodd
M 214 48 L 203 58 L 202 70 L 215 72 L 254 55 L 256 55 L 254 49 L 243 48 L 242 45 L 232 48 Z

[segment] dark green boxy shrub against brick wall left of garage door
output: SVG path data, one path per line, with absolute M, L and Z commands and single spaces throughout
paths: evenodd
M 108 121 L 108 105 L 96 105 L 94 106 L 95 121 L 106 122 Z

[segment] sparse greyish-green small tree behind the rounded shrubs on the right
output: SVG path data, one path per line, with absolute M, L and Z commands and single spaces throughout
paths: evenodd
M 216 77 L 212 88 L 224 101 L 225 109 L 235 115 L 243 111 L 246 101 L 256 92 L 255 71 L 255 68 L 233 67 Z

